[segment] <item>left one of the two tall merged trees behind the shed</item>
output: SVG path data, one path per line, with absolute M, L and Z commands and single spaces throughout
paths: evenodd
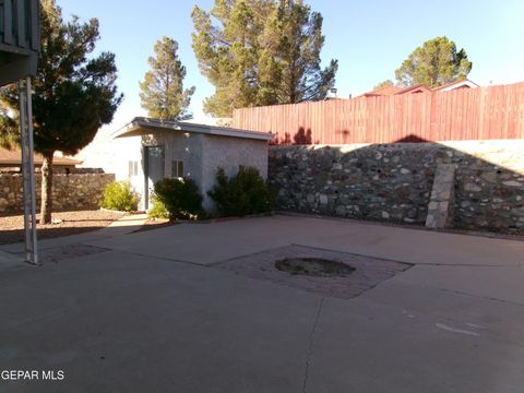
M 270 0 L 215 0 L 210 12 L 194 7 L 193 50 L 215 86 L 204 100 L 207 114 L 229 117 L 234 108 L 258 104 L 259 37 L 272 5 Z

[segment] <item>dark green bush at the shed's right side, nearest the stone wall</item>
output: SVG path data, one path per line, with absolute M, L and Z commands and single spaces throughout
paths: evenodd
M 216 184 L 207 194 L 215 201 L 218 212 L 227 216 L 269 213 L 275 201 L 257 168 L 243 166 L 230 179 L 223 168 L 218 168 Z

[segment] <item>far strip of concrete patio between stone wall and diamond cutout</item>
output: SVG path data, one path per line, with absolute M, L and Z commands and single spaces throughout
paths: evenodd
M 283 215 L 182 224 L 90 243 L 204 264 L 290 243 L 416 264 L 519 265 L 524 254 L 524 241 Z

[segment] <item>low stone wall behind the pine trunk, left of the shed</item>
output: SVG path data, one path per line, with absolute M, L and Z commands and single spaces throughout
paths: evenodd
M 40 202 L 40 176 L 36 180 L 37 209 Z M 55 211 L 99 209 L 105 187 L 115 180 L 111 174 L 55 175 L 52 209 Z M 0 212 L 23 211 L 22 175 L 0 175 Z

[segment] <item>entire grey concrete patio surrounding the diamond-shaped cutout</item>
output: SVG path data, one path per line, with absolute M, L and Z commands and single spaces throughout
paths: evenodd
M 96 252 L 41 267 L 0 247 L 0 370 L 64 372 L 0 392 L 522 392 L 523 241 L 284 215 L 126 231 L 43 241 Z M 415 265 L 353 299 L 214 265 L 288 245 Z

